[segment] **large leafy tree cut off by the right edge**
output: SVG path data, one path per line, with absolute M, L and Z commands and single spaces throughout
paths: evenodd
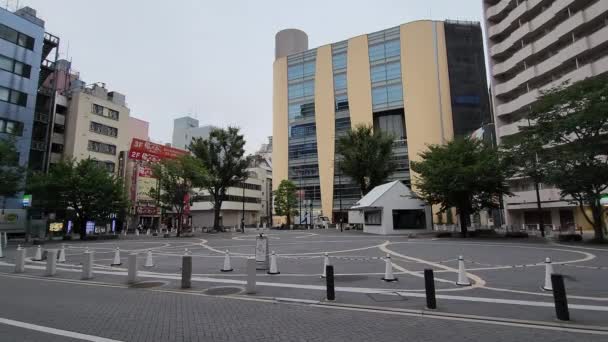
M 546 181 L 563 200 L 579 206 L 593 226 L 595 240 L 605 242 L 600 198 L 608 189 L 608 77 L 589 78 L 543 92 L 521 127 L 518 141 L 543 146 L 540 161 Z M 584 210 L 591 209 L 591 216 Z

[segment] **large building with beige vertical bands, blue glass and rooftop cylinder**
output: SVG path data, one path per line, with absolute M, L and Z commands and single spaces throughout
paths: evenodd
M 315 216 L 346 220 L 341 209 L 361 197 L 335 152 L 351 128 L 392 134 L 391 180 L 409 185 L 427 144 L 492 121 L 479 23 L 416 21 L 314 49 L 299 30 L 275 40 L 273 187 L 292 180 Z

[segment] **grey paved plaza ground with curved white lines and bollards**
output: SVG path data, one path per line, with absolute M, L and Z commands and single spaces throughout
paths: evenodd
M 262 232 L 280 274 L 257 272 L 246 294 L 246 260 Z M 608 248 L 540 240 L 372 236 L 336 230 L 198 233 L 190 238 L 128 236 L 67 241 L 66 262 L 14 273 L 16 244 L 0 259 L 0 340 L 30 341 L 601 341 L 608 337 Z M 111 266 L 116 247 L 121 265 Z M 61 242 L 45 249 L 59 249 Z M 94 278 L 81 280 L 83 253 Z M 232 272 L 221 272 L 225 251 Z M 147 252 L 153 266 L 144 267 Z M 127 256 L 138 253 L 137 283 Z M 192 288 L 180 288 L 181 259 L 193 259 Z M 327 301 L 324 255 L 335 268 Z M 385 257 L 396 282 L 385 282 Z M 463 256 L 471 286 L 456 285 Z M 545 258 L 564 275 L 571 321 L 555 317 L 544 291 Z M 424 269 L 433 269 L 437 309 L 425 308 Z M 57 329 L 56 331 L 53 329 Z

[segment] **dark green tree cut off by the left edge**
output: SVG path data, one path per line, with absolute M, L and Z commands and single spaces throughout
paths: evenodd
M 19 154 L 14 139 L 0 139 L 0 197 L 2 197 L 2 213 L 6 200 L 14 197 L 23 186 L 25 169 L 19 165 Z

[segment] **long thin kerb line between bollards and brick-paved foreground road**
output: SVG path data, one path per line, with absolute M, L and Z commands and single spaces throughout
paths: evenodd
M 75 284 L 75 285 L 127 288 L 127 286 L 124 286 L 124 285 L 85 282 L 85 281 L 78 281 L 78 280 L 65 280 L 65 279 L 57 280 L 57 279 L 42 278 L 42 277 L 37 277 L 37 276 L 23 276 L 23 275 L 12 275 L 12 274 L 2 274 L 2 275 L 8 276 L 8 277 L 14 277 L 14 278 L 25 278 L 25 279 L 32 279 L 32 280 L 37 279 L 37 280 L 43 280 L 43 281 L 70 283 L 70 284 Z M 581 324 L 572 324 L 572 323 L 529 321 L 529 320 L 518 320 L 518 319 L 509 319 L 509 318 L 492 317 L 492 316 L 478 316 L 478 315 L 437 312 L 437 311 L 429 311 L 429 310 L 424 310 L 424 309 L 412 310 L 412 309 L 400 309 L 400 308 L 387 308 L 387 307 L 365 306 L 365 305 L 356 305 L 356 304 L 342 304 L 342 303 L 335 303 L 335 302 L 306 300 L 306 299 L 297 299 L 297 298 L 284 298 L 284 297 L 274 297 L 274 298 L 273 297 L 249 297 L 249 296 L 243 296 L 243 295 L 211 296 L 211 295 L 207 295 L 207 294 L 204 294 L 204 293 L 202 293 L 200 291 L 196 291 L 196 290 L 169 290 L 169 289 L 138 289 L 138 290 L 150 291 L 150 292 L 161 292 L 161 293 L 173 293 L 173 294 L 181 294 L 181 295 L 195 295 L 195 296 L 201 296 L 201 297 L 215 297 L 215 298 L 224 298 L 224 299 L 233 299 L 233 300 L 256 301 L 256 302 L 264 302 L 264 303 L 277 303 L 277 304 L 286 304 L 286 305 L 308 304 L 310 307 L 325 308 L 325 309 L 350 310 L 350 311 L 392 314 L 392 315 L 410 316 L 410 317 L 411 316 L 428 317 L 428 318 L 441 319 L 441 320 L 453 320 L 453 321 L 461 321 L 461 322 L 473 322 L 473 323 L 481 323 L 481 324 L 514 326 L 514 327 L 523 327 L 523 328 L 531 328 L 531 329 L 556 330 L 556 331 L 574 332 L 574 333 L 608 335 L 608 327 L 581 325 Z M 28 324 L 28 323 L 25 323 L 25 324 Z M 49 329 L 53 329 L 53 328 L 49 328 Z M 90 335 L 86 335 L 86 336 L 90 336 Z M 82 337 L 77 337 L 77 338 L 82 338 Z M 103 338 L 101 340 L 88 340 L 88 341 L 116 342 L 116 340 L 108 340 L 108 339 L 103 339 Z

